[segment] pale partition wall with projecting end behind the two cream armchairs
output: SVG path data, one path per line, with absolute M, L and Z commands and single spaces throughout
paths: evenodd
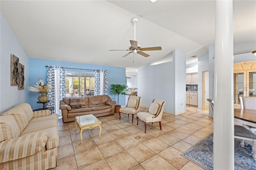
M 138 96 L 141 97 L 141 105 L 149 107 L 153 99 L 161 99 L 166 101 L 164 111 L 174 114 L 185 112 L 186 54 L 174 50 L 172 62 L 140 67 Z

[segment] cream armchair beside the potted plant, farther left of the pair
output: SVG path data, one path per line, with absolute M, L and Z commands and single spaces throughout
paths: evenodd
M 133 117 L 134 114 L 138 113 L 140 111 L 140 96 L 129 96 L 128 102 L 126 107 L 121 107 L 119 109 L 119 119 L 121 119 L 120 113 L 124 113 L 129 115 L 132 115 L 132 123 L 133 123 Z

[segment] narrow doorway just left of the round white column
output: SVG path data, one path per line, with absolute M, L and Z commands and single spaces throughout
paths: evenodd
M 209 99 L 209 71 L 203 71 L 203 109 L 209 109 L 209 103 L 207 99 Z

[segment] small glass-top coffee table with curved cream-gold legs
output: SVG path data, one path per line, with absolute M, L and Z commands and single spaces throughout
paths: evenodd
M 94 127 L 99 127 L 100 128 L 100 132 L 101 132 L 101 121 L 99 121 L 99 119 L 97 119 L 94 115 L 90 114 L 90 115 L 83 115 L 83 116 L 76 116 L 75 117 L 75 125 L 76 125 L 76 129 L 77 129 L 77 125 L 80 128 L 80 138 L 81 138 L 81 143 L 80 145 L 82 145 L 83 142 L 83 138 L 82 138 L 82 132 L 84 129 L 92 129 Z M 76 130 L 75 130 L 76 132 Z M 100 132 L 99 132 L 99 137 L 100 137 Z M 101 137 L 100 137 L 101 139 Z

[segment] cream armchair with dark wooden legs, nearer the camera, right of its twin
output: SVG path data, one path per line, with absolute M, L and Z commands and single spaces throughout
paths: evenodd
M 165 101 L 154 99 L 148 109 L 148 112 L 137 113 L 137 125 L 138 125 L 138 119 L 143 121 L 145 123 L 145 133 L 147 130 L 147 123 L 149 122 L 152 122 L 152 123 L 159 122 L 160 129 L 162 130 L 161 120 L 164 112 L 164 105 L 165 105 Z

